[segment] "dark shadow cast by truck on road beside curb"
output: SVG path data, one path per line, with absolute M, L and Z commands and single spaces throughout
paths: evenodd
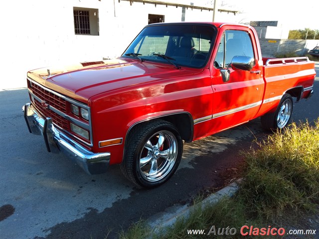
M 216 149 L 191 145 L 191 143 L 186 146 L 184 151 L 185 155 L 182 159 L 184 166 L 182 165 L 164 185 L 152 190 L 134 187 L 129 198 L 114 202 L 112 207 L 106 208 L 102 212 L 95 208 L 88 208 L 89 212 L 82 218 L 73 222 L 63 222 L 46 229 L 45 232 L 49 232 L 49 234 L 45 239 L 87 239 L 90 237 L 101 239 L 106 235 L 108 235 L 108 239 L 115 239 L 119 237 L 118 233 L 121 230 L 127 230 L 132 223 L 147 219 L 172 205 L 191 204 L 198 194 L 223 187 L 225 183 L 233 180 L 237 168 L 243 163 L 241 150 L 249 149 L 254 137 L 250 135 L 231 144 L 225 143 L 226 136 L 222 134 L 210 137 L 218 138 L 218 140 L 223 139 L 223 150 L 216 152 Z M 199 140 L 193 143 L 203 145 L 206 142 Z M 194 152 L 190 151 L 200 151 L 201 153 L 199 156 L 193 156 Z M 192 159 L 189 160 L 187 157 L 192 157 Z M 111 170 L 117 171 L 119 167 L 112 167 Z M 36 237 L 36 239 L 44 238 Z

